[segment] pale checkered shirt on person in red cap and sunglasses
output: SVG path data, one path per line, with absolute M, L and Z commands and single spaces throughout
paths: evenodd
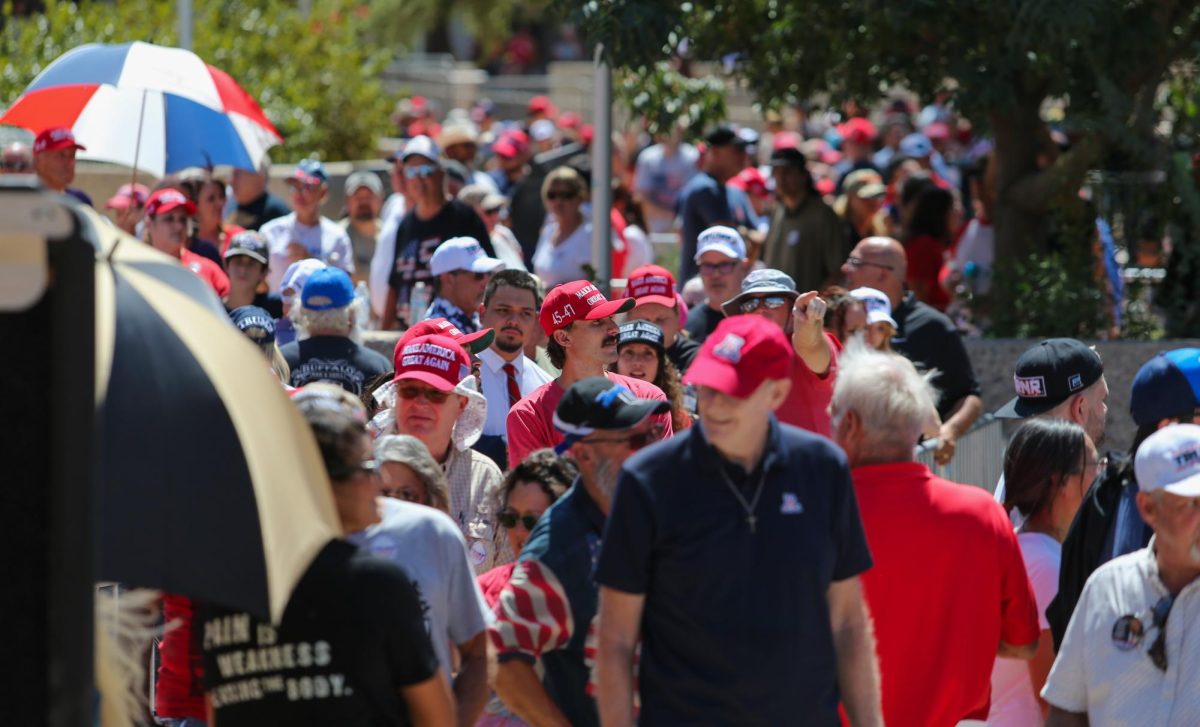
M 467 555 L 475 575 L 497 565 L 512 563 L 512 548 L 506 537 L 497 536 L 496 512 L 504 476 L 500 468 L 475 450 L 457 450 L 442 463 L 450 483 L 450 517 L 467 539 Z

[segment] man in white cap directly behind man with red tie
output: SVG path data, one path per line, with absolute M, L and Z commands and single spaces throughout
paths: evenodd
M 474 334 L 480 329 L 478 311 L 484 302 L 484 289 L 492 274 L 502 268 L 504 263 L 487 257 L 479 240 L 446 240 L 430 260 L 436 298 L 421 320 L 445 318 L 462 332 Z

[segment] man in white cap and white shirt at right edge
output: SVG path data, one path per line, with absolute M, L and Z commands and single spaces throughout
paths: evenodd
M 1042 690 L 1048 727 L 1200 723 L 1200 426 L 1150 435 L 1134 470 L 1154 536 L 1084 587 Z

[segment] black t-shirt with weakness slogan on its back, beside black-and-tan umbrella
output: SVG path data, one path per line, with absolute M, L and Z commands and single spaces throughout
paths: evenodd
M 408 725 L 401 689 L 438 668 L 412 582 L 343 540 L 313 559 L 278 626 L 215 606 L 197 615 L 221 727 Z

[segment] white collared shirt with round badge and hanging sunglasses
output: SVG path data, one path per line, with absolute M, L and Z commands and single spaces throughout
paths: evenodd
M 1166 671 L 1146 651 L 1158 638 L 1151 608 L 1168 594 L 1158 575 L 1154 539 L 1098 567 L 1084 587 L 1042 696 L 1060 709 L 1087 713 L 1092 725 L 1200 725 L 1200 579 L 1180 591 L 1166 619 Z M 1141 643 L 1122 650 L 1117 619 L 1141 621 Z

